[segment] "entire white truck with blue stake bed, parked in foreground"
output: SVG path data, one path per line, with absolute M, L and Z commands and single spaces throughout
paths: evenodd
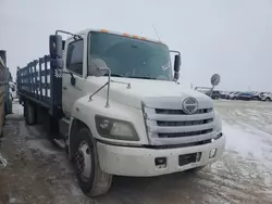
M 17 93 L 26 123 L 46 122 L 65 144 L 86 195 L 106 193 L 112 175 L 152 177 L 221 158 L 221 118 L 209 97 L 177 82 L 180 52 L 104 29 L 57 30 L 49 41 L 50 55 L 17 69 Z

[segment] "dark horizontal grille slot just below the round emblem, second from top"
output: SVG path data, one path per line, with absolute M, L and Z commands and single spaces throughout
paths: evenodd
M 213 118 L 198 119 L 198 120 L 185 120 L 185 122 L 161 122 L 158 120 L 157 125 L 160 127 L 173 127 L 173 126 L 197 126 L 212 123 Z

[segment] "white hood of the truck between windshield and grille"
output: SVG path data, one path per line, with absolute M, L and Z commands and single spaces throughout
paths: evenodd
M 173 110 L 181 109 L 184 99 L 195 98 L 199 109 L 213 106 L 213 102 L 208 95 L 184 88 L 175 81 L 119 77 L 112 77 L 111 80 L 110 101 L 123 105 L 141 109 L 141 103 L 145 103 L 148 107 Z M 87 81 L 90 84 L 88 92 L 92 93 L 107 82 L 107 77 L 88 77 Z M 107 88 L 97 94 L 106 98 Z

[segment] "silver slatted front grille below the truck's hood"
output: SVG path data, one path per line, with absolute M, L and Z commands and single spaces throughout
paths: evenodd
M 182 109 L 144 107 L 147 131 L 151 143 L 185 144 L 212 139 L 214 111 L 200 107 L 194 114 L 186 114 Z

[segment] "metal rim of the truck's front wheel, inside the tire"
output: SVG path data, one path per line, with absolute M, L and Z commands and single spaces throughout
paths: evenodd
M 76 153 L 76 167 L 83 180 L 91 175 L 91 151 L 86 141 L 82 141 Z

